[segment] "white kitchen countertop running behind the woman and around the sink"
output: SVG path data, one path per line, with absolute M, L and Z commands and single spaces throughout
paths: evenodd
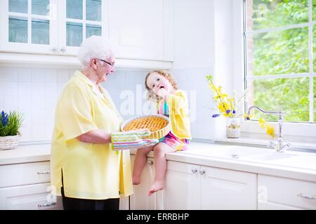
M 194 154 L 194 151 L 220 147 L 223 147 L 223 144 L 209 144 L 192 141 L 190 143 L 190 148 L 187 151 L 168 153 L 166 155 L 166 159 L 176 162 L 192 163 L 195 165 L 204 165 L 223 169 L 234 169 L 242 172 L 281 176 L 291 179 L 301 179 L 304 181 L 316 182 L 316 169 L 314 168 L 315 166 L 309 169 L 309 167 L 292 167 L 288 165 L 277 165 L 276 163 L 269 164 L 263 162 L 245 161 L 242 159 L 239 160 L 233 158 L 217 158 L 205 156 L 202 154 Z M 269 149 L 266 150 L 269 151 Z M 270 149 L 270 151 L 272 150 Z M 135 152 L 136 150 L 131 150 L 131 154 L 135 154 Z M 18 148 L 13 150 L 0 151 L 0 165 L 48 161 L 50 160 L 50 153 L 50 144 L 18 146 Z M 298 152 L 291 151 L 287 153 L 297 154 Z M 315 160 L 316 164 L 316 153 L 303 153 L 302 155 L 308 156 L 308 158 L 310 158 L 310 160 L 312 161 Z M 150 152 L 148 154 L 148 157 L 153 157 L 153 153 Z

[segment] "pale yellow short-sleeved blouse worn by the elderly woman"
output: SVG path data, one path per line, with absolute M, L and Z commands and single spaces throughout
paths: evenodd
M 112 151 L 110 144 L 87 144 L 77 139 L 91 130 L 119 131 L 123 121 L 110 95 L 80 71 L 65 85 L 55 110 L 51 146 L 51 186 L 63 187 L 66 197 L 92 200 L 133 193 L 129 151 Z

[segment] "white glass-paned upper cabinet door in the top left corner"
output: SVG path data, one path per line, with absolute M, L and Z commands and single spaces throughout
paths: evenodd
M 53 7 L 55 0 L 4 0 L 1 1 L 2 51 L 57 52 L 58 24 Z M 55 8 L 56 9 L 56 8 Z

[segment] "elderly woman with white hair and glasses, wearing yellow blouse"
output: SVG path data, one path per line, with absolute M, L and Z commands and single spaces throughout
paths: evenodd
M 120 195 L 133 193 L 129 148 L 156 144 L 149 133 L 119 132 L 123 119 L 100 83 L 114 69 L 106 39 L 91 36 L 78 52 L 82 70 L 65 85 L 55 109 L 51 185 L 64 209 L 119 209 Z M 127 149 L 127 150 L 122 150 Z

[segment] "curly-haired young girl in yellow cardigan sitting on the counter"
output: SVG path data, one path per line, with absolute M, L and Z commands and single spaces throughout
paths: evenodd
M 171 132 L 159 144 L 138 149 L 133 169 L 133 184 L 140 183 L 140 174 L 146 163 L 146 155 L 154 151 L 154 183 L 150 187 L 148 196 L 164 188 L 166 174 L 166 153 L 187 149 L 191 139 L 190 120 L 188 113 L 187 97 L 183 90 L 179 90 L 176 81 L 166 71 L 152 71 L 147 73 L 145 87 L 147 97 L 157 102 L 158 113 L 168 116 L 171 121 Z

